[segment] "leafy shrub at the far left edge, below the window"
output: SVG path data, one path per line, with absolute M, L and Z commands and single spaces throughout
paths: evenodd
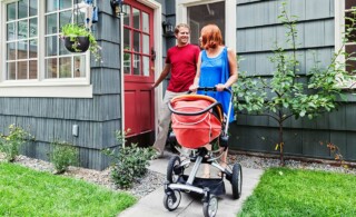
M 0 134 L 0 151 L 4 152 L 7 161 L 12 162 L 19 155 L 20 147 L 33 139 L 34 137 L 21 127 L 10 125 L 8 136 Z

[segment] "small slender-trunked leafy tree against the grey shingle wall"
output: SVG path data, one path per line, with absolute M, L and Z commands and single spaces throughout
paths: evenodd
M 297 29 L 296 17 L 289 17 L 286 3 L 281 4 L 281 14 L 278 16 L 287 29 L 286 42 L 290 46 L 289 52 L 277 45 L 274 56 L 269 61 L 275 63 L 276 69 L 268 80 L 258 76 L 240 73 L 239 80 L 233 86 L 237 96 L 236 110 L 243 114 L 268 116 L 278 124 L 278 142 L 280 164 L 284 165 L 284 122 L 290 117 L 315 118 L 324 112 L 330 112 L 338 106 L 338 97 L 342 96 L 339 82 L 347 78 L 345 65 L 337 61 L 339 56 L 350 56 L 338 50 L 332 63 L 327 68 L 319 68 L 318 62 L 306 75 L 306 81 L 298 76 L 299 61 L 297 60 Z M 347 33 L 350 33 L 352 29 Z M 344 45 L 346 42 L 344 40 Z M 338 78 L 338 79 L 337 79 Z

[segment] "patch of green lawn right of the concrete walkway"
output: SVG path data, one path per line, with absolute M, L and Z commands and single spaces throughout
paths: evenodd
M 238 216 L 356 216 L 355 186 L 355 175 L 270 168 Z

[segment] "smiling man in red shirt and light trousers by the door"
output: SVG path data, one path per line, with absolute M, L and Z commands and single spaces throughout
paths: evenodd
M 158 136 L 154 144 L 154 148 L 157 150 L 156 158 L 162 157 L 166 146 L 171 115 L 168 103 L 174 97 L 186 93 L 189 90 L 196 76 L 200 52 L 198 46 L 189 43 L 190 28 L 188 24 L 178 24 L 175 28 L 175 36 L 177 46 L 168 50 L 165 68 L 152 85 L 152 88 L 159 86 L 170 71 L 170 81 L 159 110 Z

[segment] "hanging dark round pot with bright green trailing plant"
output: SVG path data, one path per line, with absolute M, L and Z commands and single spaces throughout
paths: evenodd
M 96 61 L 101 59 L 99 53 L 101 48 L 95 36 L 85 26 L 77 23 L 62 26 L 61 38 L 65 41 L 65 47 L 70 52 L 86 52 L 89 49 Z

